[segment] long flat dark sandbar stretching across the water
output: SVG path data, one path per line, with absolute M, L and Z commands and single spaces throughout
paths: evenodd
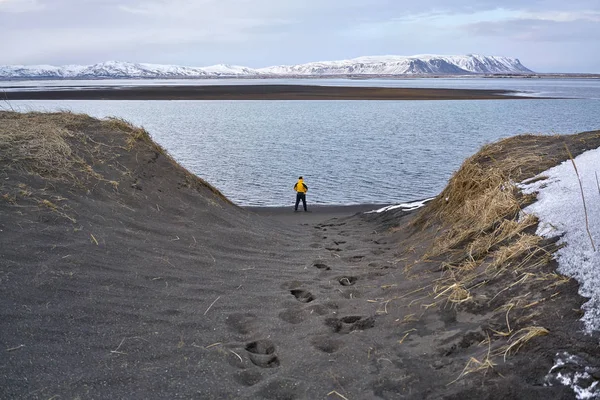
M 540 99 L 510 90 L 313 85 L 138 86 L 9 91 L 5 100 L 506 100 Z

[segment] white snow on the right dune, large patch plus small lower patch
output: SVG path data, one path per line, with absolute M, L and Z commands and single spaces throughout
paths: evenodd
M 598 174 L 600 148 L 579 155 L 574 163 L 565 161 L 520 185 L 524 193 L 537 192 L 537 202 L 523 210 L 538 216 L 540 223 L 536 233 L 548 238 L 561 236 L 558 244 L 565 246 L 556 253 L 558 271 L 574 278 L 579 283 L 579 294 L 589 299 L 583 305 L 585 314 L 582 318 L 588 332 L 600 329 Z M 546 179 L 536 181 L 541 177 Z M 589 233 L 586 226 L 589 226 Z M 593 378 L 600 368 L 586 364 L 581 357 L 557 353 L 545 384 L 568 386 L 577 399 L 600 398 L 600 387 Z

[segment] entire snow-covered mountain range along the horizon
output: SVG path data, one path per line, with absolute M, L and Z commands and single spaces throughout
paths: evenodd
M 467 75 L 531 73 L 516 58 L 497 56 L 375 56 L 300 65 L 247 68 L 236 65 L 184 67 L 107 61 L 94 65 L 0 65 L 0 79 L 219 78 L 344 75 Z

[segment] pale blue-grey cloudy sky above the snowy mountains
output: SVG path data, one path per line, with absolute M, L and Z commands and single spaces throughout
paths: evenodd
M 598 0 L 0 0 L 0 64 L 516 57 L 600 73 Z

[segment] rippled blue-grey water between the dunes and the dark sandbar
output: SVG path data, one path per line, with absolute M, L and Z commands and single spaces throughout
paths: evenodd
M 576 88 L 561 90 L 580 95 Z M 22 111 L 68 109 L 125 118 L 144 126 L 177 161 L 237 204 L 289 206 L 299 175 L 309 186 L 309 204 L 396 203 L 434 196 L 464 159 L 486 143 L 521 133 L 600 129 L 600 86 L 583 90 L 592 96 L 11 105 Z

